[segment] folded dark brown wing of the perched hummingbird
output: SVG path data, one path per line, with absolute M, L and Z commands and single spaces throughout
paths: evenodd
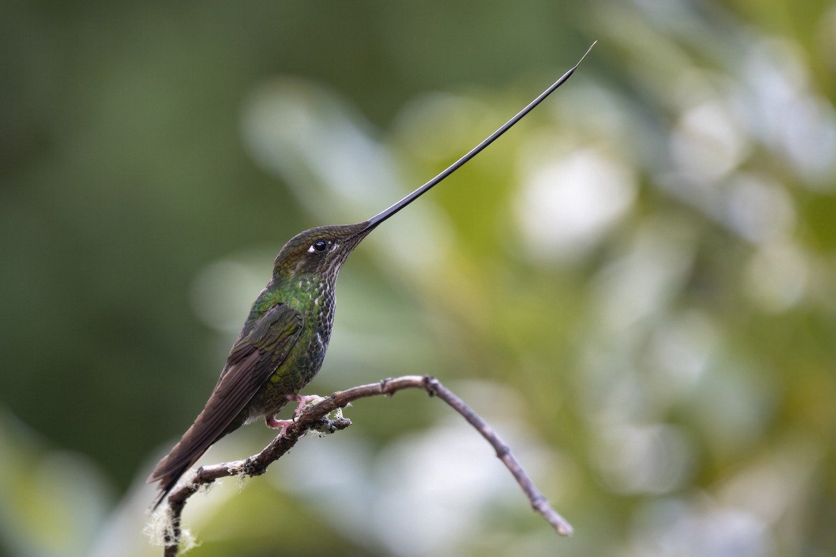
M 298 311 L 277 304 L 238 338 L 206 406 L 148 478 L 149 484 L 159 481 L 162 490 L 154 507 L 212 443 L 229 433 L 227 427 L 288 357 L 302 329 L 303 319 Z

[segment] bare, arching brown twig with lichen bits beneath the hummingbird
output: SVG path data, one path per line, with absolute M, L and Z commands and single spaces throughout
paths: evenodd
M 278 435 L 261 453 L 230 463 L 219 463 L 198 468 L 190 481 L 178 484 L 171 491 L 166 501 L 165 509 L 162 510 L 162 512 L 171 513 L 171 528 L 166 533 L 164 557 L 176 557 L 181 539 L 180 519 L 183 507 L 186 505 L 186 500 L 202 486 L 212 484 L 216 479 L 227 476 L 259 476 L 267 471 L 271 463 L 281 458 L 290 448 L 293 448 L 293 445 L 296 444 L 298 439 L 308 429 L 328 429 L 333 432 L 349 427 L 351 422 L 348 419 L 339 418 L 329 420 L 326 418 L 329 413 L 337 408 L 345 408 L 349 403 L 359 398 L 377 397 L 380 395 L 391 396 L 395 392 L 407 388 L 424 389 L 430 396 L 441 398 L 441 400 L 456 410 L 457 413 L 460 413 L 479 433 L 482 433 L 482 437 L 487 439 L 488 443 L 491 443 L 492 447 L 497 451 L 497 458 L 502 460 L 502 463 L 512 473 L 514 479 L 517 480 L 517 484 L 520 485 L 523 492 L 528 496 L 528 500 L 531 501 L 533 509 L 539 514 L 542 514 L 543 518 L 548 521 L 548 524 L 552 524 L 553 528 L 558 531 L 558 534 L 572 534 L 572 526 L 557 511 L 552 509 L 543 494 L 534 487 L 533 482 L 528 478 L 528 474 L 517 461 L 517 458 L 514 458 L 511 449 L 508 448 L 507 444 L 502 442 L 502 439 L 499 438 L 497 433 L 472 408 L 468 407 L 461 398 L 456 397 L 450 389 L 442 385 L 435 377 L 428 375 L 405 375 L 403 377 L 384 379 L 381 382 L 370 383 L 368 385 L 352 387 L 345 391 L 334 392 L 331 396 L 325 397 L 319 402 L 304 408 L 293 424 L 288 427 L 285 433 L 287 437 Z

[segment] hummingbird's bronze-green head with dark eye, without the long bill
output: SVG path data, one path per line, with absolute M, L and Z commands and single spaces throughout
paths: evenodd
M 335 281 L 351 251 L 375 226 L 368 220 L 355 225 L 317 226 L 293 236 L 273 264 L 274 278 L 319 275 Z

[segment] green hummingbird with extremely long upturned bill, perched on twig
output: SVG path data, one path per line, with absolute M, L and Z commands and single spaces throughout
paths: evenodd
M 340 268 L 354 248 L 380 223 L 451 175 L 523 119 L 574 73 L 594 45 L 573 68 L 512 119 L 395 205 L 354 225 L 304 230 L 283 246 L 273 263 L 273 276 L 252 303 L 205 407 L 148 478 L 149 484 L 158 482 L 161 490 L 152 509 L 161 504 L 206 449 L 244 423 L 263 418 L 268 428 L 279 429 L 279 434 L 284 435 L 293 419 L 277 419 L 276 414 L 288 403 L 298 403 L 296 415 L 314 398 L 303 397 L 299 392 L 322 367 L 334 323 L 334 286 Z

